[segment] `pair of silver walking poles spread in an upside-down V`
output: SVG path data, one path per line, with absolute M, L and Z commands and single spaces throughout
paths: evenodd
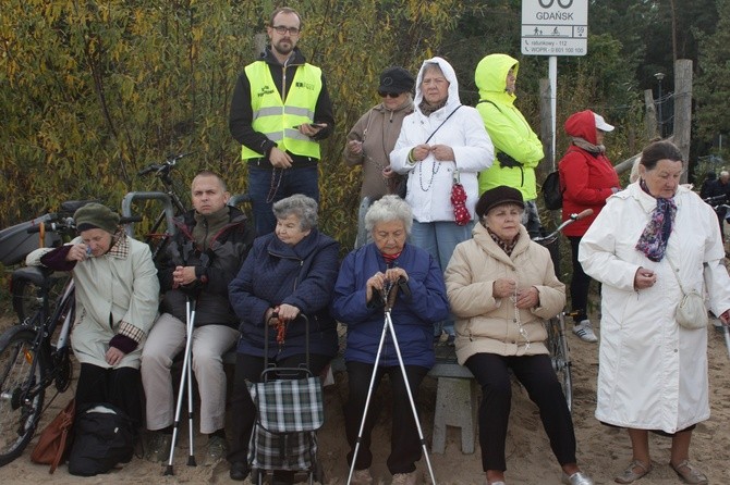
M 421 447 L 424 450 L 424 457 L 426 457 L 426 464 L 428 467 L 428 473 L 430 474 L 430 481 L 433 485 L 436 485 L 436 477 L 434 476 L 434 469 L 430 464 L 430 459 L 428 458 L 428 449 L 426 449 L 426 439 L 424 438 L 423 431 L 421 430 L 421 421 L 418 421 L 418 412 L 416 411 L 416 405 L 413 400 L 413 394 L 411 393 L 411 384 L 409 382 L 409 376 L 405 373 L 405 364 L 403 363 L 403 357 L 401 356 L 401 348 L 398 345 L 398 337 L 396 336 L 396 328 L 393 328 L 393 320 L 390 315 L 390 312 L 396 304 L 396 298 L 398 297 L 398 289 L 401 284 L 405 283 L 403 276 L 398 278 L 398 282 L 394 284 L 389 284 L 384 288 L 381 295 L 382 300 L 386 302 L 386 316 L 382 324 L 382 334 L 380 335 L 380 344 L 378 345 L 378 351 L 375 357 L 375 364 L 373 366 L 373 376 L 370 377 L 370 386 L 367 389 L 367 397 L 365 398 L 365 409 L 363 411 L 363 420 L 360 423 L 360 431 L 357 432 L 357 440 L 355 442 L 355 451 L 352 456 L 352 463 L 350 464 L 350 473 L 348 474 L 348 485 L 352 481 L 352 475 L 355 472 L 355 461 L 357 459 L 357 451 L 360 450 L 360 444 L 363 439 L 363 431 L 365 430 L 365 421 L 367 420 L 367 410 L 370 405 L 370 398 L 373 397 L 373 387 L 375 385 L 375 374 L 378 370 L 378 362 L 380 361 L 380 353 L 382 352 L 382 346 L 386 341 L 386 333 L 390 332 L 390 337 L 393 340 L 393 347 L 396 347 L 396 355 L 398 356 L 398 364 L 401 368 L 401 373 L 403 374 L 403 382 L 405 383 L 405 391 L 409 395 L 409 401 L 411 402 L 411 411 L 413 411 L 413 419 L 416 422 L 416 428 L 418 430 L 418 438 L 421 438 Z

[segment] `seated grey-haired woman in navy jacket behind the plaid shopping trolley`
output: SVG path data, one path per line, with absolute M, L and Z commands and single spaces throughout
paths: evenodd
M 294 195 L 273 204 L 273 233 L 254 240 L 238 276 L 229 285 L 231 306 L 241 319 L 231 406 L 233 443 L 228 456 L 231 478 L 248 475 L 248 440 L 256 408 L 246 381 L 259 382 L 264 338 L 269 363 L 297 368 L 305 363 L 305 325 L 309 320 L 309 370 L 316 375 L 338 349 L 337 322 L 328 307 L 337 278 L 340 245 L 317 231 L 317 202 Z M 273 329 L 267 328 L 273 326 Z M 279 341 L 278 341 L 279 340 Z M 275 471 L 273 483 L 293 483 L 294 472 Z

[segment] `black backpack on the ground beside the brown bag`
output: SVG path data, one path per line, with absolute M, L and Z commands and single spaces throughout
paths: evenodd
M 107 402 L 82 406 L 74 423 L 69 473 L 94 476 L 129 462 L 134 456 L 134 438 L 132 420 L 121 409 Z

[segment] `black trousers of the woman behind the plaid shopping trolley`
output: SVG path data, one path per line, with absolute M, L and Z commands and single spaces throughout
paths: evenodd
M 311 355 L 309 371 L 314 375 L 319 375 L 330 360 L 332 360 L 330 356 Z M 270 360 L 269 362 L 271 363 Z M 297 368 L 305 362 L 305 356 L 301 353 L 275 361 L 273 363 L 281 368 Z M 235 375 L 233 377 L 233 390 L 231 394 L 231 410 L 233 414 L 231 420 L 232 443 L 228 453 L 228 461 L 231 463 L 236 461 L 246 463 L 248 461 L 248 442 L 251 440 L 251 434 L 254 431 L 254 423 L 256 422 L 256 406 L 253 399 L 251 399 L 251 394 L 248 394 L 246 381 L 253 383 L 259 382 L 263 371 L 263 357 L 244 353 L 235 355 Z

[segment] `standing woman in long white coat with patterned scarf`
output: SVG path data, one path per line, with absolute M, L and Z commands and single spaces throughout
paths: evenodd
M 670 465 L 686 483 L 707 483 L 689 461 L 692 430 L 709 418 L 707 328 L 680 326 L 676 311 L 683 290 L 705 291 L 728 324 L 730 278 L 717 217 L 681 174 L 674 145 L 646 147 L 638 181 L 608 199 L 580 245 L 604 284 L 596 418 L 626 427 L 633 451 L 618 483 L 650 471 L 648 431 L 671 436 Z

